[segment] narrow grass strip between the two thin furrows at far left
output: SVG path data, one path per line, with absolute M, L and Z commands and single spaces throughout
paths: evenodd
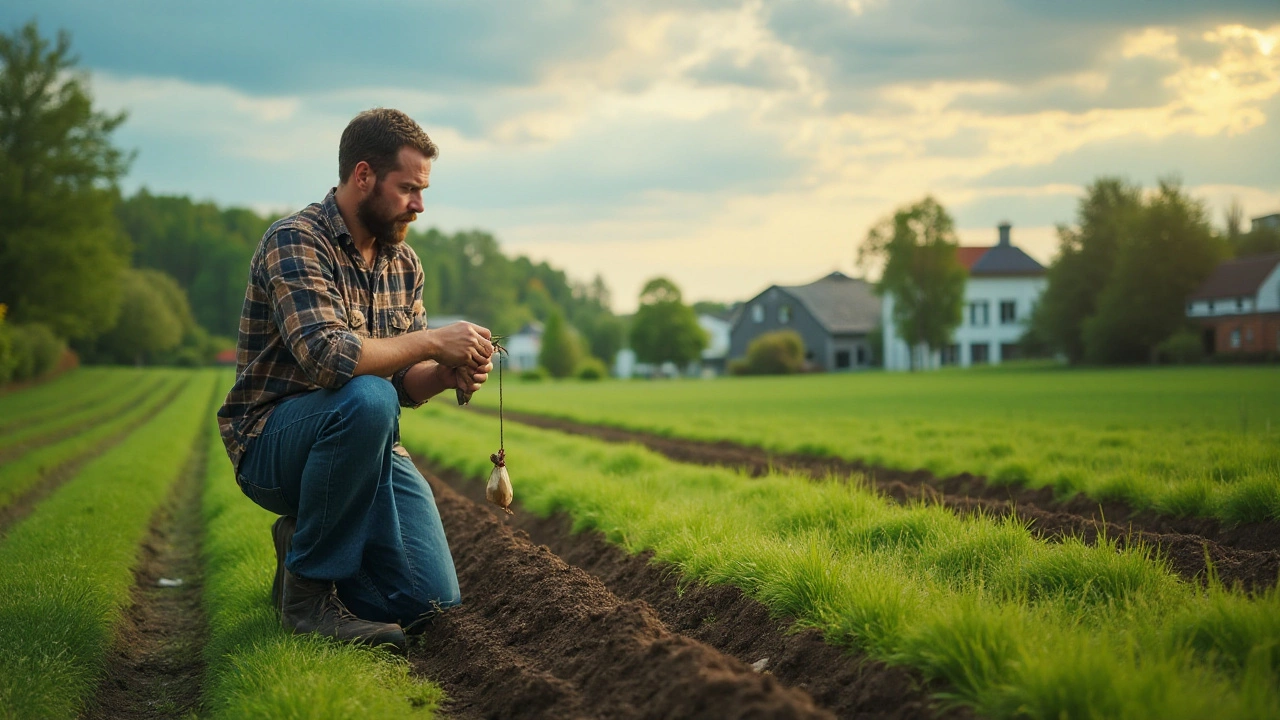
M 164 375 L 165 378 L 160 387 L 147 398 L 150 402 L 136 402 L 123 415 L 102 423 L 88 432 L 36 448 L 0 465 L 0 507 L 6 507 L 15 498 L 35 487 L 41 478 L 49 477 L 69 462 L 76 462 L 93 454 L 102 443 L 109 442 L 113 437 L 125 432 L 148 415 L 160 411 L 172 392 L 192 377 L 189 372 L 172 370 L 164 373 Z

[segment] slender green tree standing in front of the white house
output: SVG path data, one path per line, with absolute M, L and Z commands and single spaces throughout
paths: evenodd
M 899 208 L 867 233 L 859 264 L 882 260 L 876 291 L 893 297 L 897 334 L 913 348 L 951 342 L 964 310 L 965 270 L 956 259 L 955 223 L 933 197 Z

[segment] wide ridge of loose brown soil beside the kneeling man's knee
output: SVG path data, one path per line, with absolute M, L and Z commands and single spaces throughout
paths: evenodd
M 462 717 L 831 717 L 428 475 L 463 603 L 410 648 Z

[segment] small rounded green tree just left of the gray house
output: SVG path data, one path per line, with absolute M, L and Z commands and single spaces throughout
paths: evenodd
M 653 278 L 640 291 L 640 309 L 631 320 L 631 348 L 641 363 L 686 365 L 707 347 L 707 333 L 694 309 L 685 305 L 676 283 Z

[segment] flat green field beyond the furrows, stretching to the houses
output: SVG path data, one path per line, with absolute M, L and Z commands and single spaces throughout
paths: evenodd
M 940 475 L 974 473 L 1170 515 L 1280 520 L 1274 366 L 1011 366 L 508 389 L 511 410 Z M 492 391 L 475 397 L 497 401 Z

